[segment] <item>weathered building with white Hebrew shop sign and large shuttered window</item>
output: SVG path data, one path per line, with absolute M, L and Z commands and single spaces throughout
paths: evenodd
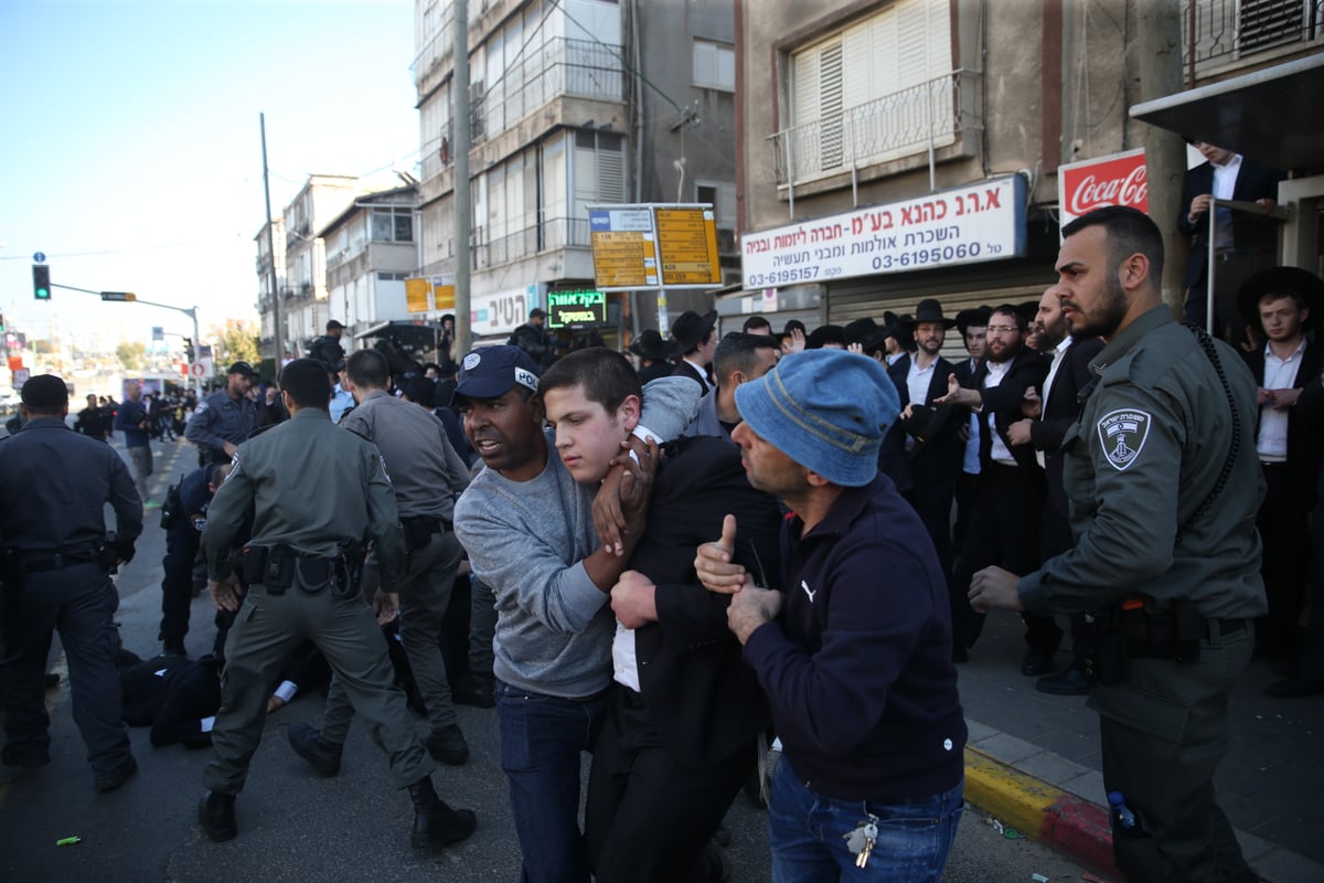
M 1301 15 L 1276 37 L 1245 36 L 1288 7 Z M 1218 41 L 1235 44 L 1225 68 L 1287 56 L 1317 71 L 1312 8 L 1184 3 L 1194 91 L 1226 75 L 1204 48 Z M 1219 16 L 1241 20 L 1214 40 L 1207 25 Z M 845 324 L 931 297 L 948 315 L 1037 299 L 1054 278 L 1059 167 L 1144 147 L 1148 126 L 1131 114 L 1141 26 L 1125 0 L 737 0 L 744 290 L 719 298 L 723 322 L 769 312 L 776 327 Z M 1225 114 L 1207 106 L 1210 124 L 1173 116 L 1169 127 L 1320 171 L 1319 115 L 1266 111 L 1254 99 L 1245 107 L 1254 144 L 1214 126 Z M 1313 132 L 1313 160 L 1270 148 L 1296 143 L 1299 130 Z M 1149 210 L 1164 224 L 1178 209 Z M 1292 210 L 1316 213 L 1308 203 Z

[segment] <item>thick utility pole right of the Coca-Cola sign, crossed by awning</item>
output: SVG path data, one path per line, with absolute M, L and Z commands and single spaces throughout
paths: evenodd
M 1181 78 L 1181 11 L 1186 4 L 1136 4 L 1136 29 L 1140 48 L 1140 101 L 1174 95 L 1184 87 Z M 1181 135 L 1157 126 L 1144 124 L 1145 177 L 1149 188 L 1149 216 L 1164 233 L 1162 299 L 1180 316 L 1184 315 L 1182 275 L 1190 244 L 1177 229 L 1177 203 L 1186 173 L 1186 143 Z

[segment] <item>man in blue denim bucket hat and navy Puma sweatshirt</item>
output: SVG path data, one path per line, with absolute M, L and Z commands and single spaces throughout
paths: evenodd
M 730 515 L 695 567 L 710 590 L 735 593 L 727 624 L 784 745 L 768 796 L 773 880 L 937 883 L 961 817 L 965 721 L 947 580 L 878 473 L 896 391 L 873 359 L 817 349 L 743 384 L 736 406 L 749 483 L 793 512 L 785 594 L 731 563 Z

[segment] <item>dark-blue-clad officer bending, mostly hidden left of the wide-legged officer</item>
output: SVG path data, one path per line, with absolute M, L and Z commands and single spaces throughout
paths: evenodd
M 193 560 L 207 524 L 212 495 L 230 471 L 229 463 L 208 463 L 184 477 L 166 496 L 162 527 L 166 528 L 166 559 L 162 561 L 162 627 L 156 635 L 167 655 L 185 657 L 189 604 L 193 598 Z

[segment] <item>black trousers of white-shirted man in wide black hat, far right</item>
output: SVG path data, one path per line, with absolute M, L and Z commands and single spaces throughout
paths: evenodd
M 1262 621 L 1262 647 L 1270 657 L 1296 657 L 1300 651 L 1301 605 L 1311 560 L 1309 510 L 1292 487 L 1287 463 L 1264 463 L 1267 492 L 1255 518 L 1264 559 L 1260 575 L 1268 597 L 1268 616 Z

